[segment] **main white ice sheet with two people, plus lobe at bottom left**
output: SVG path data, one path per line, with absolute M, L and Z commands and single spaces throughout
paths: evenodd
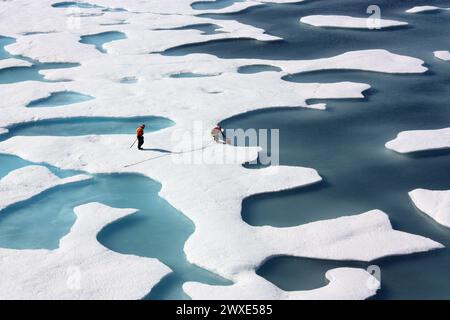
M 193 0 L 88 1 L 127 10 L 108 13 L 101 9 L 51 7 L 56 2 L 61 1 L 0 3 L 0 34 L 16 39 L 15 43 L 6 46 L 8 52 L 41 62 L 80 64 L 75 68 L 41 71 L 47 80 L 70 81 L 0 85 L 0 130 L 10 127 L 13 130 L 15 124 L 43 119 L 164 116 L 176 124 L 147 133 L 145 147 L 168 149 L 173 154 L 130 150 L 134 136 L 128 135 L 15 136 L 0 142 L 0 152 L 62 169 L 78 169 L 91 174 L 134 172 L 159 181 L 162 184 L 160 195 L 195 224 L 195 232 L 185 244 L 188 260 L 234 282 L 229 287 L 186 284 L 184 289 L 193 298 L 208 294 L 208 298 L 247 295 L 261 299 L 275 296 L 363 299 L 373 295 L 377 288 L 365 286 L 364 282 L 369 277 L 365 270 L 330 270 L 327 273 L 330 284 L 297 293 L 282 292 L 257 277 L 254 271 L 263 261 L 282 254 L 370 261 L 441 247 L 430 239 L 392 230 L 386 214 L 378 210 L 292 228 L 249 226 L 241 217 L 241 204 L 245 197 L 310 185 L 319 182 L 321 177 L 314 169 L 303 167 L 246 169 L 242 163 L 254 160 L 259 148 L 217 145 L 211 143 L 209 137 L 212 125 L 237 114 L 279 106 L 323 109 L 324 104 L 308 105 L 307 100 L 363 98 L 363 92 L 370 88 L 368 84 L 354 82 L 292 83 L 282 80 L 285 75 L 330 69 L 423 73 L 427 68 L 422 60 L 386 50 L 360 50 L 297 61 L 157 53 L 176 46 L 219 39 L 279 40 L 262 29 L 195 14 L 237 12 L 266 2 L 299 2 L 293 0 L 244 1 L 219 10 L 194 10 L 191 7 Z M 216 24 L 223 33 L 204 35 L 198 30 L 167 30 L 200 23 Z M 123 32 L 127 38 L 106 43 L 106 54 L 79 42 L 83 35 L 106 31 Z M 282 71 L 237 72 L 239 67 L 253 64 L 273 65 Z M 170 77 L 183 72 L 214 76 Z M 135 77 L 138 81 L 126 85 L 120 83 L 126 77 Z M 95 97 L 95 100 L 54 108 L 26 107 L 31 101 L 58 91 L 82 92 Z M 202 126 L 198 130 L 197 121 L 201 121 Z M 201 136 L 199 143 L 179 139 L 194 133 Z M 220 163 L 221 160 L 226 164 Z M 95 240 L 96 233 L 104 225 L 131 212 L 132 209 L 119 210 L 100 204 L 81 206 L 76 210 L 76 224 L 71 233 L 61 239 L 59 249 L 0 249 L 0 295 L 4 298 L 42 299 L 142 297 L 169 272 L 168 268 L 153 259 L 110 252 Z M 38 261 L 37 266 L 34 266 L 35 261 Z M 33 269 L 28 268 L 30 265 Z M 81 291 L 67 292 L 64 276 L 67 266 L 72 265 L 81 266 L 83 274 L 86 272 L 88 284 L 85 287 L 83 282 Z M 52 274 L 48 270 L 52 270 Z M 201 290 L 196 289 L 200 287 Z M 255 288 L 261 290 L 254 292 Z

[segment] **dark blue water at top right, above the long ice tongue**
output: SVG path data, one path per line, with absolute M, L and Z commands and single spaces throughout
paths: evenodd
M 423 1 L 378 0 L 382 18 L 410 23 L 409 28 L 374 31 L 317 28 L 299 23 L 315 14 L 341 14 L 367 17 L 367 2 L 361 0 L 305 1 L 298 4 L 267 4 L 234 14 L 207 14 L 214 19 L 237 20 L 284 40 L 262 42 L 251 39 L 215 40 L 169 49 L 166 55 L 208 52 L 221 58 L 317 59 L 343 52 L 385 48 L 392 52 L 434 59 L 434 50 L 448 50 L 449 36 L 442 28 L 450 20 L 448 12 L 408 14 L 404 11 Z M 450 1 L 430 0 L 427 5 L 448 7 Z M 418 40 L 420 39 L 420 41 Z M 440 49 L 439 49 L 440 48 Z M 433 50 L 430 50 L 433 49 Z

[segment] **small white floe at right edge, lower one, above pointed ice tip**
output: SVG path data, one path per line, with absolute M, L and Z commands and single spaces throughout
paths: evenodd
M 450 190 L 415 189 L 408 194 L 420 211 L 450 228 Z

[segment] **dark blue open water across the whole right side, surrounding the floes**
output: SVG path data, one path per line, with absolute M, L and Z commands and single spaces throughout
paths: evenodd
M 242 217 L 251 225 L 287 227 L 371 209 L 385 211 L 394 228 L 439 241 L 445 249 L 380 259 L 382 289 L 375 299 L 449 299 L 450 231 L 418 211 L 407 192 L 415 188 L 450 188 L 450 151 L 400 155 L 384 147 L 403 130 L 450 126 L 450 64 L 433 56 L 448 50 L 450 15 L 413 15 L 404 11 L 420 1 L 381 0 L 382 17 L 410 23 L 408 28 L 369 32 L 316 28 L 298 19 L 312 14 L 367 16 L 360 0 L 306 1 L 262 5 L 236 14 L 207 15 L 264 28 L 284 40 L 221 40 L 167 50 L 166 55 L 208 53 L 221 58 L 316 59 L 361 49 L 384 48 L 426 62 L 421 75 L 384 75 L 361 71 L 319 71 L 284 77 L 292 82 L 357 81 L 372 86 L 364 99 L 326 102 L 327 111 L 273 109 L 223 121 L 225 128 L 280 129 L 280 161 L 319 171 L 323 182 L 287 192 L 245 199 Z M 450 1 L 427 4 L 449 6 Z M 248 165 L 247 167 L 251 167 Z M 304 290 L 326 283 L 325 271 L 339 266 L 365 267 L 349 261 L 277 257 L 258 273 L 286 290 Z

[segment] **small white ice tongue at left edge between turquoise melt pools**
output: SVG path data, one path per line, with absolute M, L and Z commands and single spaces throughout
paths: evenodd
M 90 177 L 84 174 L 60 179 L 43 166 L 26 166 L 11 171 L 0 180 L 0 211 L 50 188 L 87 179 Z

